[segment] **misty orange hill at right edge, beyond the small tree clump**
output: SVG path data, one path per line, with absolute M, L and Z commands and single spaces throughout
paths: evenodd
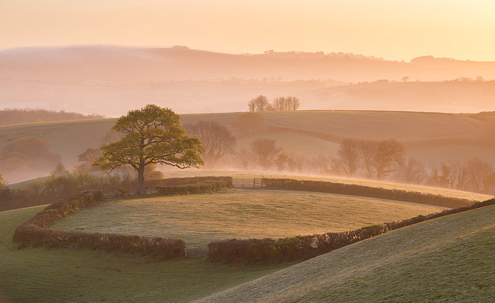
M 495 110 L 495 81 L 396 82 L 325 87 L 299 93 L 312 108 L 477 113 Z

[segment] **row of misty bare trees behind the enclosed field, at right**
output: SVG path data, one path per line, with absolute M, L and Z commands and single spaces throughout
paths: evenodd
M 404 146 L 396 139 L 348 138 L 341 142 L 336 155 L 312 157 L 290 154 L 268 138 L 253 140 L 249 148 L 232 150 L 223 163 L 240 170 L 362 177 L 495 193 L 495 168 L 487 161 L 475 157 L 426 166 L 407 158 Z

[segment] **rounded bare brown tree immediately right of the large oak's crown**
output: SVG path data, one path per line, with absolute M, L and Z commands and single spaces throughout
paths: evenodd
M 198 137 L 204 147 L 202 159 L 206 169 L 221 167 L 225 156 L 233 151 L 236 137 L 225 126 L 216 121 L 198 121 L 184 125 L 191 136 Z

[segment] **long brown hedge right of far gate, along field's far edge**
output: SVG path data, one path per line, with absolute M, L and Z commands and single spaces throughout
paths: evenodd
M 448 208 L 471 205 L 474 201 L 460 198 L 445 197 L 442 195 L 426 194 L 401 189 L 387 189 L 358 184 L 345 184 L 326 181 L 294 180 L 264 178 L 265 184 L 287 190 L 315 191 L 341 195 L 362 196 L 379 199 L 421 203 Z

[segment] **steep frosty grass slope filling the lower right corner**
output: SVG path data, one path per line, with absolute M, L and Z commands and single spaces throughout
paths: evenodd
M 401 228 L 199 302 L 493 302 L 495 207 Z

